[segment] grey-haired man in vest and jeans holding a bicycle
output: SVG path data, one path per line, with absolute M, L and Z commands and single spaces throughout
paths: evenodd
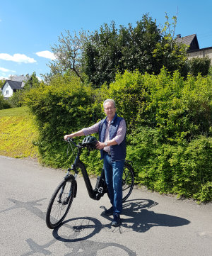
M 117 116 L 113 99 L 106 99 L 103 107 L 105 119 L 89 128 L 65 135 L 64 139 L 99 133 L 96 148 L 100 150 L 101 159 L 104 160 L 105 180 L 112 204 L 105 214 L 113 215 L 112 226 L 119 226 L 122 213 L 122 175 L 126 157 L 126 123 L 124 118 Z

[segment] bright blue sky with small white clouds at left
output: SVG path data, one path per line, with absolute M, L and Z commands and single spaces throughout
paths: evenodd
M 98 30 L 114 21 L 127 26 L 143 14 L 165 23 L 177 14 L 175 35 L 196 34 L 200 48 L 212 47 L 211 0 L 0 0 L 0 79 L 49 72 L 51 45 L 65 30 Z

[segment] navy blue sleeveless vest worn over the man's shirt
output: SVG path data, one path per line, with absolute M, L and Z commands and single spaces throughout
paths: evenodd
M 112 140 L 117 135 L 117 130 L 119 128 L 119 123 L 122 121 L 122 117 L 117 116 L 117 113 L 115 114 L 114 118 L 111 121 L 109 134 L 110 134 L 110 140 Z M 99 126 L 99 141 L 101 143 L 105 140 L 105 131 L 107 128 L 107 117 L 105 119 L 102 119 L 100 121 Z M 103 150 L 100 150 L 101 153 L 101 159 L 103 158 Z M 124 160 L 126 157 L 126 133 L 124 136 L 124 140 L 119 145 L 112 145 L 110 146 L 110 153 L 112 161 L 119 161 Z

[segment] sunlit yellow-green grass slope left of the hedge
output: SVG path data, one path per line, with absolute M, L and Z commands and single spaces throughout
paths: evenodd
M 37 157 L 37 128 L 27 107 L 0 111 L 0 155 L 8 157 Z

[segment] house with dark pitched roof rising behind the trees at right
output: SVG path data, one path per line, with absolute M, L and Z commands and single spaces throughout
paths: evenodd
M 184 43 L 185 45 L 189 45 L 189 49 L 187 50 L 188 58 L 192 59 L 192 57 L 206 57 L 208 56 L 212 62 L 212 47 L 201 48 L 199 49 L 199 43 L 196 37 L 196 34 L 187 35 L 181 37 L 181 35 L 177 35 L 175 38 L 177 42 Z

